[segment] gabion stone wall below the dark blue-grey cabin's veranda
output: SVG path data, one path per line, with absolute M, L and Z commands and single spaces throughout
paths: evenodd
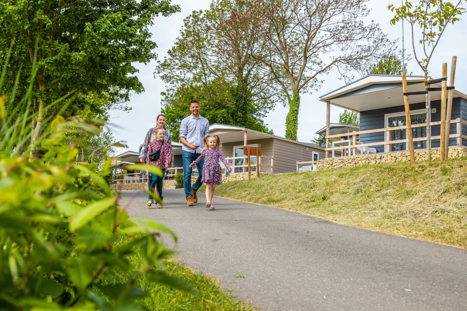
M 467 147 L 449 147 L 448 158 L 460 158 L 467 156 Z M 427 160 L 426 149 L 415 150 L 415 161 Z M 432 159 L 439 159 L 439 148 L 432 148 Z M 397 151 L 388 153 L 374 153 L 370 155 L 352 155 L 339 158 L 327 158 L 318 160 L 317 170 L 337 169 L 340 167 L 355 167 L 366 164 L 394 163 L 410 161 L 409 151 Z

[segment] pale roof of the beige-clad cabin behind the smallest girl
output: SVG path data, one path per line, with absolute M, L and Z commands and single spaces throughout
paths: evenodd
M 324 149 L 323 147 L 318 147 L 318 145 L 306 143 L 306 142 L 301 142 L 301 141 L 292 141 L 290 139 L 276 136 L 276 135 L 271 135 L 271 134 L 266 134 L 258 131 L 251 130 L 246 127 L 236 127 L 233 125 L 225 125 L 225 124 L 219 124 L 219 123 L 214 123 L 209 126 L 209 132 L 210 134 L 216 134 L 220 136 L 220 141 L 224 142 L 235 142 L 235 141 L 244 141 L 245 138 L 245 132 L 247 132 L 247 139 L 248 141 L 253 141 L 257 139 L 266 139 L 266 138 L 275 138 L 283 141 L 290 141 L 298 145 L 303 145 L 306 147 L 314 147 L 318 149 Z

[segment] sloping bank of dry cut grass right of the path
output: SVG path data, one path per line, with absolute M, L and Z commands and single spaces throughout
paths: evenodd
M 216 187 L 216 196 L 467 247 L 467 160 L 290 173 Z

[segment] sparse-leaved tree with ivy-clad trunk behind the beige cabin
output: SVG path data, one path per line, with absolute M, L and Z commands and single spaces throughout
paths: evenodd
M 250 53 L 269 69 L 289 105 L 285 137 L 297 140 L 300 94 L 317 90 L 322 75 L 338 67 L 364 71 L 371 61 L 390 55 L 377 24 L 365 25 L 367 0 L 262 0 L 262 14 L 250 20 L 261 40 Z M 329 59 L 322 59 L 326 55 Z

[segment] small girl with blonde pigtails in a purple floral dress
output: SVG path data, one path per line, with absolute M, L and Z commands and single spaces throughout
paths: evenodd
M 222 184 L 222 168 L 219 165 L 219 160 L 224 163 L 226 170 L 232 172 L 232 169 L 219 150 L 222 145 L 218 135 L 206 135 L 203 141 L 204 149 L 198 159 L 190 164 L 190 167 L 195 166 L 199 161 L 205 158 L 201 182 L 206 184 L 206 207 L 213 210 L 215 207 L 211 204 L 211 201 L 214 195 L 214 189 L 216 188 L 216 184 Z

